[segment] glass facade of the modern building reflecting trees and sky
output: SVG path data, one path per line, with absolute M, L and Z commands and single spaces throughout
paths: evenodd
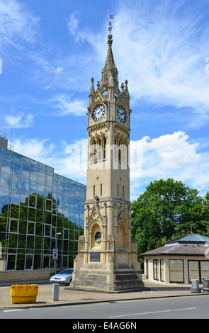
M 0 271 L 73 267 L 84 234 L 86 186 L 0 147 Z

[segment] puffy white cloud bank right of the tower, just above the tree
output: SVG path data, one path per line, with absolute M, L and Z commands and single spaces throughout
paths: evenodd
M 142 161 L 138 168 L 130 163 L 131 198 L 137 198 L 150 181 L 173 178 L 205 194 L 209 186 L 209 154 L 200 152 L 200 143 L 189 140 L 185 132 L 174 132 L 137 142 Z

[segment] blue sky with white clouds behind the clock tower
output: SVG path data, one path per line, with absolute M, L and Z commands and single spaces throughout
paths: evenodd
M 209 189 L 209 0 L 0 0 L 0 131 L 14 151 L 86 184 L 91 77 L 113 20 L 130 92 L 130 199 L 173 178 Z

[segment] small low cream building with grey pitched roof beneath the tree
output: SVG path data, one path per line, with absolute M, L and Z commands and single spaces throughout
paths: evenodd
M 209 276 L 209 237 L 184 235 L 149 252 L 145 257 L 145 277 L 162 283 L 191 283 Z

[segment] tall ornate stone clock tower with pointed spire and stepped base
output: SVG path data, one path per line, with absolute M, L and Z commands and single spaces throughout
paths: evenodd
M 113 293 L 140 289 L 144 283 L 131 237 L 130 95 L 128 81 L 118 87 L 109 31 L 96 90 L 91 79 L 84 236 L 79 237 L 70 287 Z

